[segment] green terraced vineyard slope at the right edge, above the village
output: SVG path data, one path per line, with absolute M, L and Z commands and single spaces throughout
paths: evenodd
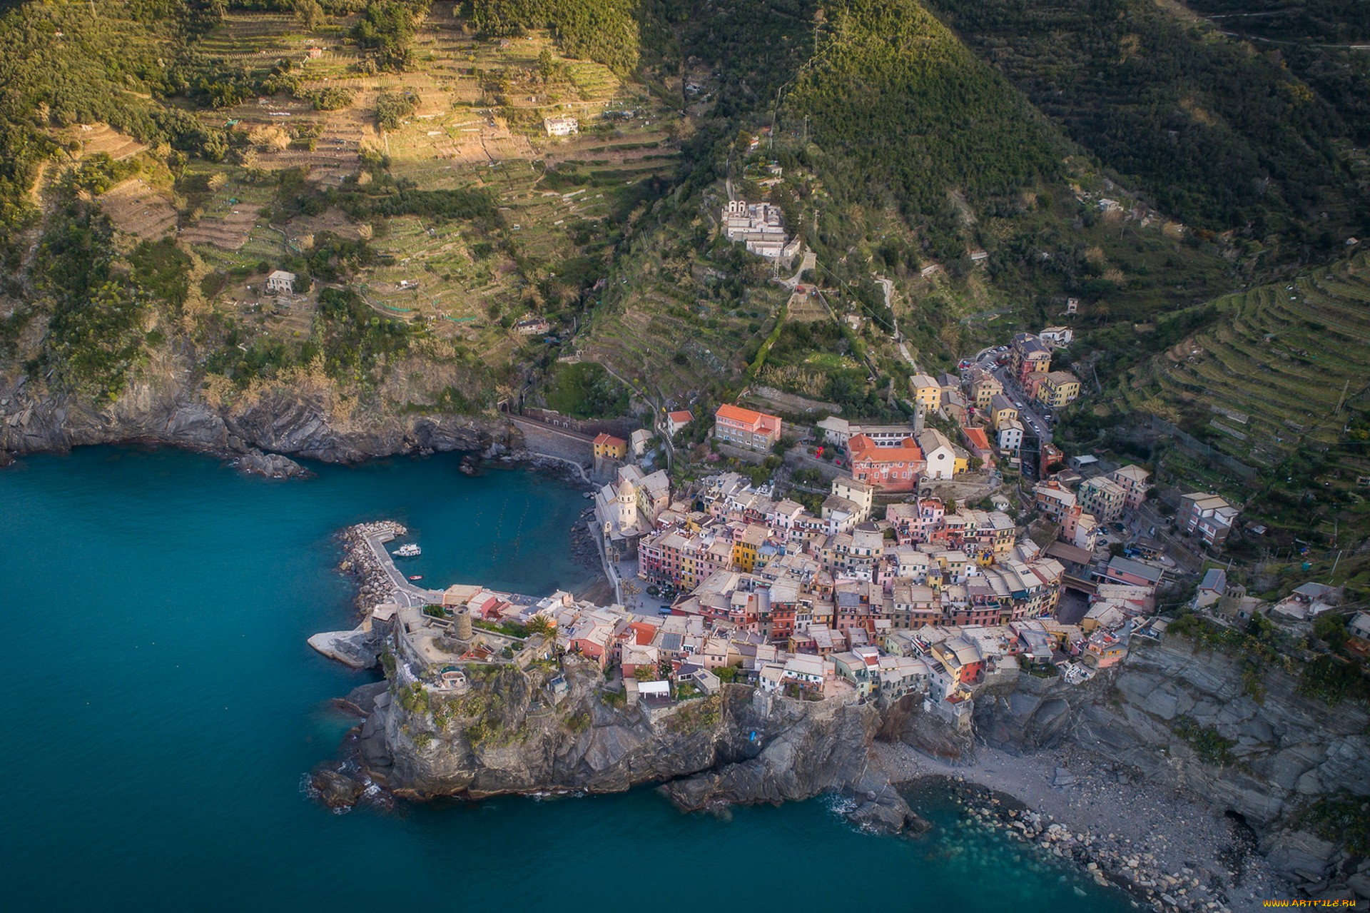
M 1370 255 L 1215 302 L 1221 318 L 1141 367 L 1121 393 L 1258 470 L 1326 454 L 1326 487 L 1359 487 L 1370 459 Z M 1281 473 L 1284 474 L 1284 473 Z

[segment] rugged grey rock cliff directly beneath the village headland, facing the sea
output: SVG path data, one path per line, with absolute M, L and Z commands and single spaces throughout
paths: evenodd
M 826 791 L 856 799 L 852 818 L 888 831 L 921 825 L 888 779 L 867 772 L 880 727 L 871 705 L 808 702 L 723 685 L 648 710 L 606 701 L 589 664 L 567 666 L 553 703 L 547 672 L 489 666 L 460 695 L 399 684 L 362 728 L 370 776 L 403 796 L 614 792 L 664 783 L 680 807 L 784 802 Z

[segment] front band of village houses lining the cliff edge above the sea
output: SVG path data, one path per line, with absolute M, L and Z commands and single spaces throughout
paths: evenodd
M 1081 681 L 1118 662 L 1141 629 L 1133 624 L 1104 631 L 1041 617 L 874 629 L 810 622 L 775 633 L 759 618 L 727 607 L 762 599 L 764 589 L 737 588 L 740 577 L 715 574 L 669 616 L 596 606 L 567 592 L 538 599 L 458 584 L 444 591 L 441 606 L 382 605 L 371 622 L 393 631 L 403 684 L 463 691 L 470 687 L 466 664 L 526 668 L 559 651 L 601 669 L 616 666 L 629 699 L 647 707 L 667 706 L 684 694 L 714 694 L 729 680 L 812 699 L 891 702 L 923 695 L 930 709 L 958 724 L 969 722 L 978 688 L 1011 684 L 1023 668 L 1048 664 L 1067 681 Z M 510 622 L 529 625 L 538 617 L 555 625 L 555 644 L 543 635 L 507 633 Z M 558 681 L 552 680 L 553 692 Z

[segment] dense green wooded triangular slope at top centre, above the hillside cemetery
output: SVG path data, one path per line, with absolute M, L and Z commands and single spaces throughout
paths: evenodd
M 838 207 L 896 210 L 937 259 L 964 245 L 948 191 L 978 210 L 1059 178 L 1067 154 L 993 69 L 907 1 L 830 4 L 786 112 L 811 119 L 814 167 Z

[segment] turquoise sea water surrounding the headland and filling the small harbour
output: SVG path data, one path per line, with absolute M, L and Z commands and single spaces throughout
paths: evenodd
M 338 528 L 406 522 L 426 583 L 544 594 L 586 580 L 567 557 L 578 492 L 456 466 L 318 466 L 279 483 L 93 448 L 0 472 L 5 906 L 1130 909 L 934 799 L 922 840 L 855 832 L 823 799 L 730 820 L 678 814 L 651 790 L 390 813 L 310 802 L 301 777 L 355 722 L 330 699 L 370 680 L 304 643 L 352 624 Z

